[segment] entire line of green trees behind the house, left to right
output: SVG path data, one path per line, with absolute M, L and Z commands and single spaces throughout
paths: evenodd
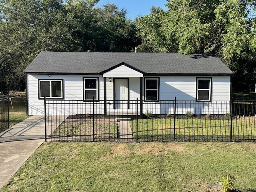
M 256 1 L 166 0 L 167 10 L 152 7 L 134 21 L 115 4 L 100 8 L 97 2 L 0 0 L 0 88 L 24 89 L 23 71 L 42 50 L 131 52 L 134 47 L 214 53 L 234 72 L 233 84 L 255 87 Z

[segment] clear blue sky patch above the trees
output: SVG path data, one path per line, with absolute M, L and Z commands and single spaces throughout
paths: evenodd
M 119 9 L 126 9 L 126 17 L 134 20 L 136 16 L 150 14 L 150 8 L 152 6 L 165 8 L 166 0 L 100 0 L 96 6 L 101 7 L 106 3 L 114 3 Z

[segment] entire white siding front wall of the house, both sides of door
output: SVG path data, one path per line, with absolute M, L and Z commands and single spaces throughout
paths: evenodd
M 63 79 L 64 85 L 64 100 L 83 100 L 83 77 L 84 75 L 27 75 L 27 92 L 28 92 L 28 114 L 29 115 L 42 115 L 44 114 L 44 100 L 38 99 L 38 79 Z M 92 76 L 87 76 L 92 77 Z M 99 78 L 99 100 L 104 100 L 104 78 Z M 126 76 L 124 76 L 125 78 Z M 193 114 L 226 114 L 229 112 L 228 104 L 224 101 L 230 100 L 230 76 L 211 76 L 212 78 L 212 101 L 211 102 L 196 102 L 196 78 L 206 76 L 144 76 L 147 77 L 160 77 L 159 95 L 160 102 L 144 102 L 143 113 L 152 112 L 154 114 L 174 114 L 174 104 L 169 102 L 167 105 L 162 104 L 161 100 L 173 101 L 174 98 L 178 101 L 192 101 L 186 105 L 177 105 L 176 114 L 186 114 L 192 112 Z M 207 77 L 209 78 L 209 77 Z M 112 78 L 113 80 L 113 78 Z M 135 101 L 136 98 L 140 100 L 140 78 L 130 77 L 130 100 Z M 143 79 L 144 95 L 144 79 Z M 106 98 L 107 100 L 114 99 L 114 83 L 106 81 Z M 144 100 L 144 97 L 143 97 Z M 216 102 L 221 104 L 221 107 L 216 107 Z M 219 102 L 223 101 L 223 102 Z M 84 103 L 84 102 L 82 102 Z M 195 107 L 194 103 L 200 103 Z M 92 104 L 86 102 L 86 109 L 81 108 L 79 103 L 74 104 L 76 113 L 85 114 L 90 113 Z M 84 105 L 83 105 L 84 106 Z M 108 105 L 107 110 L 113 110 L 113 105 Z M 64 106 L 61 108 L 65 108 Z M 79 110 L 78 110 L 79 109 Z M 104 113 L 103 102 L 97 103 L 97 113 Z M 131 105 L 130 110 L 134 110 L 134 105 Z M 54 110 L 59 110 L 56 108 Z

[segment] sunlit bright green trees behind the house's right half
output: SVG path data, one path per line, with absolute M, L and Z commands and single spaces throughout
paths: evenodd
M 135 21 L 141 52 L 214 53 L 234 72 L 234 82 L 255 86 L 253 0 L 167 0 Z

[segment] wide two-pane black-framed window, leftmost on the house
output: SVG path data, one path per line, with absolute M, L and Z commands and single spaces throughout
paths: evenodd
M 63 99 L 63 80 L 38 80 L 39 98 Z

